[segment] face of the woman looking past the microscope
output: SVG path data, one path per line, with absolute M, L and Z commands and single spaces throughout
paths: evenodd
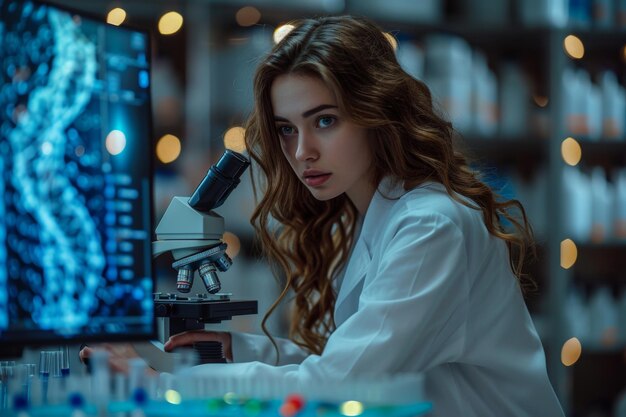
M 281 75 L 271 96 L 283 154 L 300 181 L 318 200 L 346 193 L 365 213 L 375 190 L 368 131 L 341 114 L 318 78 Z

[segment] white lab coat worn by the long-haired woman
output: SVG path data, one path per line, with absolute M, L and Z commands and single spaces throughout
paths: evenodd
M 367 210 L 340 280 L 321 356 L 233 333 L 235 363 L 197 372 L 324 381 L 423 373 L 433 416 L 560 417 L 537 332 L 504 242 L 440 184 L 388 181 Z M 384 198 L 399 197 L 394 199 Z

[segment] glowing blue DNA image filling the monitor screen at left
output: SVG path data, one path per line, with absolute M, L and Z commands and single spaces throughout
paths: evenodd
M 147 33 L 0 0 L 0 72 L 0 341 L 151 335 Z

